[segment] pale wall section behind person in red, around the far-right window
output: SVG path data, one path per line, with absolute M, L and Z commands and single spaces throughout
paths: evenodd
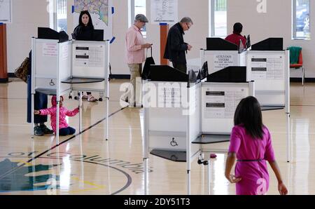
M 255 0 L 228 0 L 228 33 L 232 32 L 235 22 L 241 22 L 244 35 L 251 34 L 251 43 L 257 43 L 269 37 L 283 37 L 283 48 L 301 46 L 305 77 L 315 77 L 315 21 L 311 20 L 311 40 L 297 41 L 291 39 L 292 34 L 292 1 L 267 0 L 267 13 L 258 13 L 258 2 Z M 311 1 L 311 3 L 314 3 Z M 315 11 L 311 4 L 310 11 Z M 314 16 L 314 15 L 313 15 Z M 312 15 L 311 15 L 312 17 Z M 292 76 L 291 76 L 292 77 Z

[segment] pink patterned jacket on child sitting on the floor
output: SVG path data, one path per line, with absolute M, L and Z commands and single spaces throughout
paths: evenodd
M 53 96 L 51 98 L 52 107 L 48 109 L 41 109 L 41 115 L 48 115 L 50 114 L 50 121 L 51 121 L 51 127 L 52 130 L 56 133 L 56 119 L 57 119 L 57 101 L 56 96 Z M 70 111 L 69 109 L 66 109 L 66 107 L 60 107 L 59 109 L 59 129 L 61 128 L 68 128 L 69 125 L 66 123 L 66 116 L 75 116 L 78 114 L 79 109 L 78 107 L 76 109 L 73 109 Z

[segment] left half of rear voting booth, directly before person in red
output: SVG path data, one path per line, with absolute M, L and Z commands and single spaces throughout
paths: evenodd
M 201 66 L 208 62 L 209 74 L 225 67 L 246 66 L 246 49 L 221 38 L 207 38 L 207 49 L 200 50 Z

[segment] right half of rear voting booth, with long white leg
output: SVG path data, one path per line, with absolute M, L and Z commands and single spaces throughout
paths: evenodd
M 255 81 L 262 110 L 285 109 L 287 161 L 290 161 L 290 52 L 282 38 L 269 38 L 247 52 L 247 80 Z

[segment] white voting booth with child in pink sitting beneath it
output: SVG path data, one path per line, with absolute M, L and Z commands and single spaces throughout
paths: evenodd
M 39 32 L 38 32 L 39 36 Z M 31 109 L 34 111 L 36 92 L 57 96 L 57 126 L 59 127 L 59 97 L 73 90 L 96 91 L 106 96 L 106 114 L 109 116 L 109 41 L 69 41 L 58 39 L 31 39 Z M 55 37 L 53 37 L 55 38 Z M 79 105 L 81 107 L 82 97 Z M 81 111 L 80 111 L 80 132 Z M 32 114 L 34 135 L 34 114 Z M 59 144 L 59 128 L 56 130 Z M 106 123 L 106 140 L 109 120 Z

